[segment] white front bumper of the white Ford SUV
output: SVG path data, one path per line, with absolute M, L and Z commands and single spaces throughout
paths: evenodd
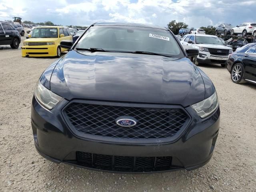
M 211 63 L 217 63 L 217 64 L 225 64 L 228 60 L 230 54 L 227 56 L 217 56 L 212 55 L 210 52 L 205 51 L 199 51 L 199 54 L 197 56 L 197 60 L 199 63 L 203 64 L 211 64 Z

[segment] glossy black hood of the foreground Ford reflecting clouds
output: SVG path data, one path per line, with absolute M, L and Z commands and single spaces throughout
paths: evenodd
M 54 68 L 50 90 L 67 100 L 182 106 L 200 102 L 205 96 L 202 76 L 188 58 L 74 50 Z

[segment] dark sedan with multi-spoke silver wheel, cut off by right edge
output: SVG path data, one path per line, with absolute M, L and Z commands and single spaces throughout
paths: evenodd
M 227 69 L 234 83 L 256 84 L 256 43 L 250 43 L 232 53 L 227 62 Z

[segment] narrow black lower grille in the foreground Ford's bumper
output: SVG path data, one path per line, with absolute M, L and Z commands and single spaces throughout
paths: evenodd
M 77 164 L 88 168 L 100 170 L 124 171 L 124 172 L 152 172 L 171 170 L 172 157 L 132 157 L 132 156 L 111 156 L 76 152 Z

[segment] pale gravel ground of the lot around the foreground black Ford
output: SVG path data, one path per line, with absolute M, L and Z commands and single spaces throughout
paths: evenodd
M 25 38 L 22 37 L 24 40 Z M 34 147 L 30 105 L 40 74 L 56 58 L 22 58 L 0 46 L 1 192 L 256 191 L 256 86 L 234 84 L 219 65 L 201 66 L 220 100 L 220 134 L 206 166 L 162 174 L 112 174 L 54 164 Z

